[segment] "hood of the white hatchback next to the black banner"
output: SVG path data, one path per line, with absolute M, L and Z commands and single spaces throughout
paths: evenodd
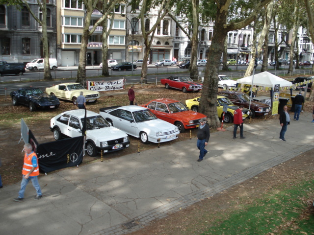
M 105 133 L 105 134 L 104 134 Z M 94 129 L 86 131 L 86 138 L 102 141 L 111 141 L 114 139 L 124 138 L 128 136 L 125 132 L 113 127 L 108 126 L 101 129 Z

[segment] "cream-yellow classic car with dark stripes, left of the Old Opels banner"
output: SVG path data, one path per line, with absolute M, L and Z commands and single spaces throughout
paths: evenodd
M 55 95 L 59 99 L 71 100 L 75 105 L 77 105 L 77 99 L 80 92 L 83 92 L 86 102 L 96 102 L 100 97 L 99 92 L 89 91 L 81 84 L 74 82 L 61 83 L 59 85 L 46 88 L 47 94 Z

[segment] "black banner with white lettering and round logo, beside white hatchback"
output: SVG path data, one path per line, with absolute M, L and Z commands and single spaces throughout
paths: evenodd
M 83 136 L 39 144 L 37 157 L 39 170 L 48 173 L 76 166 L 83 161 Z

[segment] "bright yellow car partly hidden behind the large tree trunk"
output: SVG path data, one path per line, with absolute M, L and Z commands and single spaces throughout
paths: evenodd
M 199 103 L 201 101 L 201 97 L 197 97 L 194 99 L 185 100 L 186 107 L 194 112 L 198 112 Z M 228 112 L 225 114 L 224 122 L 229 123 L 233 122 L 235 110 L 239 108 L 239 106 L 234 105 L 227 97 L 218 95 L 217 96 L 217 115 L 219 118 L 223 116 L 223 107 L 224 104 L 228 105 Z M 242 118 L 245 119 L 250 115 L 250 110 L 243 108 L 242 110 Z

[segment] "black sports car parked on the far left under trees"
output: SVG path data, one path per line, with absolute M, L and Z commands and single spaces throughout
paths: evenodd
M 38 108 L 58 108 L 60 101 L 54 95 L 43 93 L 37 87 L 20 88 L 17 91 L 11 92 L 12 104 L 23 104 L 29 107 L 29 111 L 33 112 Z

